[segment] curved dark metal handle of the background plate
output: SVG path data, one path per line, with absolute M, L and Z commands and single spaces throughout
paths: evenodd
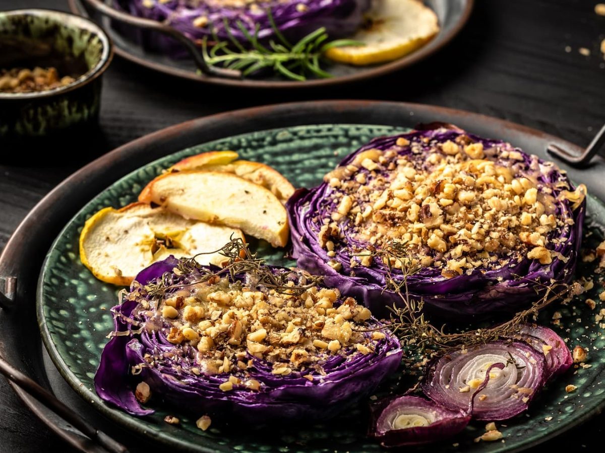
M 178 40 L 178 42 L 185 46 L 191 57 L 194 59 L 195 65 L 197 65 L 200 71 L 206 74 L 206 76 L 224 77 L 226 79 L 241 78 L 241 71 L 237 71 L 235 69 L 215 68 L 215 66 L 208 65 L 203 54 L 201 54 L 200 50 L 195 46 L 195 43 L 185 36 L 185 34 L 168 24 L 153 21 L 152 19 L 137 18 L 136 16 L 132 16 L 132 14 L 116 10 L 116 8 L 111 7 L 102 0 L 85 1 L 88 3 L 88 5 L 90 5 L 90 7 L 94 8 L 94 10 L 110 17 L 111 19 L 123 22 L 127 25 L 132 25 L 134 27 L 143 28 L 145 30 L 157 31 Z

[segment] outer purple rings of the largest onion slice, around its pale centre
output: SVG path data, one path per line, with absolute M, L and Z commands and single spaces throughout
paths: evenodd
M 546 384 L 545 379 L 545 358 L 544 354 L 538 352 L 534 349 L 534 347 L 526 344 L 522 341 L 510 341 L 510 340 L 498 340 L 488 344 L 481 344 L 474 347 L 474 349 L 469 349 L 468 352 L 462 354 L 460 350 L 456 352 L 450 353 L 449 355 L 445 355 L 442 357 L 434 358 L 427 365 L 427 371 L 425 372 L 424 379 L 422 380 L 421 388 L 423 393 L 433 402 L 438 405 L 445 406 L 450 410 L 466 410 L 468 408 L 470 399 L 473 396 L 473 391 L 469 391 L 468 393 L 460 393 L 458 388 L 454 386 L 445 387 L 446 385 L 450 386 L 450 382 L 447 381 L 451 375 L 441 374 L 439 371 L 443 369 L 444 364 L 448 364 L 451 360 L 457 359 L 460 356 L 468 356 L 471 357 L 471 353 L 476 351 L 484 351 L 490 348 L 504 350 L 506 353 L 512 353 L 513 356 L 517 358 L 523 359 L 523 357 L 528 360 L 525 361 L 525 368 L 523 368 L 523 373 L 529 374 L 529 383 L 532 388 L 533 393 L 531 394 L 522 394 L 518 398 L 508 397 L 506 399 L 506 403 L 511 403 L 511 405 L 504 406 L 503 403 L 500 403 L 497 406 L 489 407 L 490 402 L 489 396 L 485 400 L 486 403 L 482 402 L 480 399 L 474 400 L 472 417 L 476 420 L 508 420 L 514 416 L 517 416 L 520 413 L 523 413 L 527 410 L 529 403 L 531 400 L 539 393 L 541 388 Z M 531 361 L 533 359 L 533 362 Z M 506 359 L 503 360 L 505 362 Z M 515 365 L 516 366 L 516 365 Z M 523 385 L 521 386 L 523 387 Z M 488 393 L 488 390 L 483 390 L 481 393 Z M 469 401 L 462 401 L 460 399 L 463 396 L 468 396 Z M 522 397 L 526 397 L 527 400 L 524 402 Z M 459 399 L 458 402 L 455 400 Z

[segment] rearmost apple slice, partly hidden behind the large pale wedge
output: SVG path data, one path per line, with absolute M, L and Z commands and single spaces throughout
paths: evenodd
M 177 162 L 170 167 L 168 171 L 182 172 L 185 170 L 205 170 L 209 172 L 235 173 L 235 175 L 240 176 L 241 178 L 269 189 L 283 204 L 285 204 L 294 193 L 294 187 L 290 184 L 290 181 L 288 181 L 280 172 L 269 167 L 269 165 L 244 160 L 236 161 L 235 159 L 232 159 L 229 162 L 218 162 L 215 158 L 215 155 L 218 153 L 233 153 L 237 158 L 237 153 L 232 151 L 201 153 Z

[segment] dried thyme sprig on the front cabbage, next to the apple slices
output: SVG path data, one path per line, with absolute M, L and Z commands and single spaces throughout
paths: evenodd
M 227 259 L 226 264 L 221 269 L 202 266 L 196 260 L 200 255 L 215 253 L 223 255 Z M 199 253 L 191 258 L 178 260 L 175 274 L 195 274 L 193 280 L 187 283 L 174 283 L 174 275 L 171 272 L 166 272 L 156 283 L 147 284 L 145 290 L 152 298 L 163 297 L 166 291 L 171 289 L 186 288 L 206 281 L 218 282 L 220 278 L 227 276 L 231 281 L 236 281 L 236 275 L 245 274 L 247 285 L 273 289 L 281 294 L 299 295 L 323 281 L 323 277 L 310 275 L 306 272 L 302 274 L 302 271 L 298 272 L 298 281 L 294 281 L 291 271 L 275 271 L 265 266 L 264 263 L 265 260 L 258 258 L 256 253 L 252 253 L 241 238 L 231 237 L 231 240 L 218 250 Z

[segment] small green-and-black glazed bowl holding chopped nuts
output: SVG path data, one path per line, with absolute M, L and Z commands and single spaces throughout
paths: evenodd
M 44 91 L 0 92 L 0 142 L 94 126 L 112 57 L 111 40 L 88 19 L 44 9 L 0 11 L 0 69 L 53 66 L 75 79 Z

